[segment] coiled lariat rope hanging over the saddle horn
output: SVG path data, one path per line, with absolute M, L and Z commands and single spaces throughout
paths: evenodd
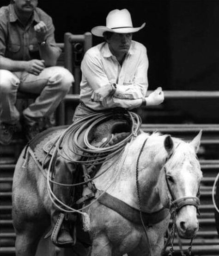
M 121 115 L 122 114 L 122 115 Z M 115 119 L 116 117 L 122 117 L 122 120 L 131 122 L 132 131 L 130 134 L 122 141 L 116 143 L 115 145 L 108 147 L 94 147 L 90 144 L 88 138 L 91 129 L 97 127 L 98 124 L 108 121 L 110 119 Z M 121 152 L 123 147 L 131 140 L 133 136 L 136 136 L 141 125 L 140 116 L 129 111 L 123 110 L 122 113 L 116 113 L 115 111 L 110 112 L 100 112 L 91 115 L 86 115 L 85 117 L 79 119 L 78 122 L 73 123 L 67 130 L 62 134 L 62 139 L 60 142 L 65 141 L 67 147 L 60 147 L 58 153 L 67 161 L 83 164 L 83 165 L 99 165 L 109 160 L 114 155 Z M 84 147 L 79 143 L 79 136 L 84 135 Z M 61 143 L 60 143 L 61 144 Z M 69 154 L 69 151 L 71 152 Z M 85 157 L 84 160 L 72 159 L 72 154 L 80 156 L 80 158 Z

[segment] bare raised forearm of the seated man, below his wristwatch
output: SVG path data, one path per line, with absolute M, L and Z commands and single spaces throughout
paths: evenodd
M 55 66 L 60 51 L 49 44 L 40 45 L 40 57 L 45 61 L 45 66 Z

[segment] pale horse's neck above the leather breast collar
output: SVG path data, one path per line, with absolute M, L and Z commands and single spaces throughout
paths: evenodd
M 130 145 L 124 149 L 119 160 L 110 160 L 103 165 L 103 170 L 108 168 L 106 173 L 95 179 L 98 189 L 111 194 L 126 202 L 134 208 L 139 208 L 136 186 L 136 163 L 140 149 L 130 150 Z M 133 154 L 133 152 L 135 152 Z M 158 192 L 154 189 L 158 181 L 159 170 L 150 155 L 142 156 L 140 162 L 144 161 L 144 170 L 139 170 L 139 186 L 141 206 L 143 211 L 157 211 L 161 208 Z M 110 166 L 111 164 L 111 166 Z M 110 166 L 110 168 L 109 168 Z

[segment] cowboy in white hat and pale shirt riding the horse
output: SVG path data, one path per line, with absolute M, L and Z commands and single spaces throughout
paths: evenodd
M 134 28 L 130 13 L 123 9 L 111 11 L 106 18 L 106 26 L 97 26 L 91 30 L 94 35 L 103 37 L 105 42 L 85 53 L 81 64 L 80 103 L 75 110 L 73 122 L 97 111 L 117 107 L 134 109 L 141 105 L 158 105 L 164 101 L 161 88 L 146 97 L 146 47 L 132 40 L 133 33 L 144 26 L 145 24 Z M 63 147 L 64 145 L 65 143 Z M 68 162 L 61 156 L 57 157 L 55 182 L 72 182 L 76 170 L 73 161 L 77 160 L 77 156 L 72 154 L 71 158 L 72 162 Z M 61 201 L 69 202 L 69 187 L 54 184 L 53 191 Z M 71 246 L 75 239 L 69 233 L 67 218 L 62 225 L 60 224 L 60 213 L 60 209 L 53 205 L 51 222 L 55 231 L 52 234 L 52 241 L 58 246 Z

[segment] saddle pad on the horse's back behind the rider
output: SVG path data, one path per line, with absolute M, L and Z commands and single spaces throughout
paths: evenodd
M 43 163 L 47 153 L 54 144 L 55 140 L 58 139 L 58 137 L 64 132 L 64 130 L 66 130 L 67 127 L 68 126 L 65 125 L 49 128 L 42 133 L 37 134 L 36 137 L 34 137 L 34 139 L 29 142 L 29 147 L 32 149 L 36 160 L 39 163 Z M 47 162 L 48 160 L 49 157 L 47 159 Z

